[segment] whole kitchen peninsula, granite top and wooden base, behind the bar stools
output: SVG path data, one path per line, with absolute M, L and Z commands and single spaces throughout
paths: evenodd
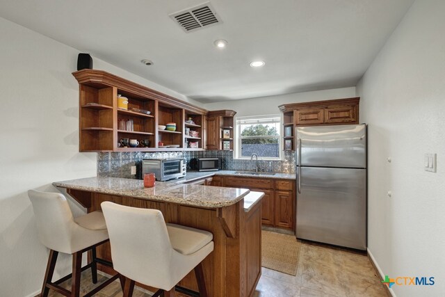
M 66 188 L 67 193 L 88 212 L 100 209 L 101 202 L 112 201 L 131 207 L 159 209 L 166 223 L 211 232 L 215 248 L 202 262 L 209 296 L 253 294 L 261 276 L 259 202 L 262 193 L 243 188 L 169 182 L 156 182 L 154 188 L 144 188 L 141 180 L 113 177 L 90 177 L 53 184 Z M 109 244 L 100 246 L 97 254 L 111 260 Z M 99 268 L 114 273 L 104 266 Z M 193 271 L 179 286 L 198 291 Z

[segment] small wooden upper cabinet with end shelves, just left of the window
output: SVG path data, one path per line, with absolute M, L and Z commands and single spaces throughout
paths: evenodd
M 207 113 L 207 150 L 234 149 L 234 115 L 236 111 L 222 110 Z

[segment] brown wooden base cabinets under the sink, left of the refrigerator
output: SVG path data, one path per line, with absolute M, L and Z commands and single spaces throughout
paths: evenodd
M 215 179 L 215 177 L 213 177 Z M 224 177 L 224 186 L 264 192 L 261 200 L 261 223 L 295 230 L 295 181 L 263 177 Z

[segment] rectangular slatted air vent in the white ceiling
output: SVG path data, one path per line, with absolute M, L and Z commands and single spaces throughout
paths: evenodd
M 178 13 L 172 13 L 170 17 L 186 32 L 221 23 L 209 2 L 181 10 Z

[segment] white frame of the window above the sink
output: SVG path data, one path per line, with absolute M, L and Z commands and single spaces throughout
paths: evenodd
M 270 124 L 274 121 L 266 121 L 267 119 L 275 119 L 275 122 L 278 123 L 278 133 L 280 135 L 278 138 L 278 156 L 270 157 L 270 156 L 261 156 L 260 158 L 268 161 L 282 161 L 283 159 L 283 150 L 282 150 L 282 135 L 283 135 L 283 116 L 282 114 L 272 114 L 272 115 L 250 115 L 250 116 L 240 116 L 234 118 L 234 159 L 238 160 L 250 160 L 250 156 L 241 156 L 241 139 L 248 138 L 275 138 L 273 136 L 243 136 L 241 138 L 241 124 L 242 121 L 257 121 L 258 124 Z

